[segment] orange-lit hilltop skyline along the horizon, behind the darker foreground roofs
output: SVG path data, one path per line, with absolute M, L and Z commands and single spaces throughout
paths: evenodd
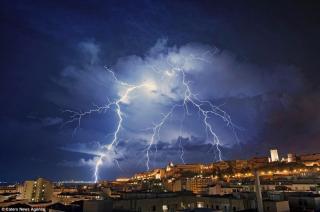
M 251 162 L 250 162 L 251 161 Z M 220 167 L 222 168 L 222 170 L 226 170 L 228 169 L 228 167 L 232 167 L 232 169 L 234 169 L 235 167 L 233 163 L 239 163 L 242 164 L 240 165 L 240 169 L 238 169 L 238 174 L 241 173 L 244 174 L 244 170 L 245 172 L 250 173 L 248 176 L 246 177 L 253 177 L 253 173 L 255 171 L 258 170 L 258 172 L 260 173 L 260 175 L 270 175 L 270 174 L 276 174 L 276 171 L 279 172 L 278 174 L 285 174 L 285 175 L 291 175 L 294 174 L 293 172 L 293 167 L 299 167 L 300 168 L 294 168 L 300 171 L 305 172 L 306 169 L 315 169 L 317 172 L 320 171 L 320 153 L 319 152 L 313 152 L 313 153 L 305 153 L 305 154 L 295 154 L 295 153 L 278 153 L 278 149 L 270 149 L 269 150 L 269 154 L 264 154 L 264 155 L 256 155 L 254 157 L 251 158 L 236 158 L 234 160 L 225 160 L 225 161 L 213 161 L 213 162 L 207 162 L 207 163 L 203 163 L 203 162 L 193 162 L 193 163 L 173 163 L 172 161 L 167 161 L 165 163 L 164 166 L 161 167 L 154 167 L 153 169 L 149 169 L 149 170 L 144 170 L 144 171 L 140 171 L 140 172 L 135 172 L 132 175 L 120 175 L 117 176 L 114 179 L 98 179 L 98 181 L 95 180 L 81 180 L 81 179 L 58 179 L 55 180 L 54 183 L 57 184 L 100 184 L 101 182 L 127 182 L 128 180 L 150 180 L 150 179 L 158 179 L 158 177 L 156 177 L 156 175 L 158 174 L 159 170 L 165 170 L 168 171 L 168 167 L 176 167 L 176 166 L 182 166 L 182 167 L 198 167 L 196 168 L 196 170 L 198 170 L 200 167 L 210 167 L 208 169 L 212 169 L 213 167 Z M 251 165 L 248 166 L 248 164 L 252 163 Z M 228 165 L 226 165 L 228 164 Z M 231 165 L 233 164 L 233 165 Z M 293 165 L 293 166 L 292 166 Z M 239 165 L 238 165 L 239 166 Z M 270 167 L 268 167 L 270 166 Z M 250 167 L 248 169 L 248 167 Z M 272 171 L 272 173 L 270 173 L 270 170 L 266 169 L 274 169 Z M 288 168 L 290 169 L 290 171 L 288 170 Z M 301 168 L 303 168 L 301 170 Z M 207 169 L 207 168 L 205 168 Z M 200 169 L 199 169 L 200 171 Z M 228 170 L 228 172 L 230 172 L 230 170 Z M 231 171 L 229 174 L 233 173 L 234 171 Z M 268 174 L 269 172 L 269 174 Z M 292 173 L 291 173 L 292 172 Z M 297 172 L 298 173 L 298 172 Z M 210 172 L 210 174 L 214 175 L 214 172 Z M 229 176 L 228 174 L 228 176 Z M 233 173 L 236 174 L 236 173 Z M 139 177 L 140 176 L 140 177 Z M 230 175 L 231 177 L 231 175 Z M 235 178 L 238 178 L 239 176 L 234 176 Z M 1 182 L 0 181 L 0 185 L 11 185 L 11 184 L 20 184 L 22 182 L 28 182 L 28 180 L 35 180 L 35 179 L 43 179 L 42 176 L 36 176 L 35 178 L 30 178 L 30 179 L 23 179 L 21 181 L 8 181 L 8 182 Z M 159 178 L 162 179 L 163 177 Z M 46 180 L 52 180 L 50 177 L 46 178 Z

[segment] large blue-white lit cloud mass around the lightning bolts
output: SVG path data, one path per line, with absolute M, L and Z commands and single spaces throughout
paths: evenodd
M 237 59 L 230 52 L 199 43 L 168 46 L 167 40 L 160 39 L 145 55 L 122 57 L 114 65 L 103 64 L 103 58 L 99 56 L 103 50 L 94 41 L 81 42 L 78 47 L 83 63 L 67 66 L 61 72 L 60 78 L 55 79 L 55 83 L 66 91 L 65 94 L 48 93 L 48 98 L 61 107 L 85 111 L 93 104 L 103 105 L 123 96 L 128 87 L 121 82 L 130 85 L 148 84 L 134 90 L 121 102 L 124 122 L 116 152 L 108 153 L 108 160 L 105 161 L 107 167 L 113 166 L 115 159 L 127 165 L 130 164 L 128 161 L 136 161 L 132 159 L 137 155 L 145 159 L 145 150 L 152 136 L 151 128 L 173 105 L 183 102 L 186 87 L 181 70 L 197 98 L 220 106 L 239 126 L 235 133 L 240 140 L 220 117 L 210 117 L 209 121 L 224 148 L 232 148 L 239 141 L 246 143 L 259 133 L 259 128 L 253 126 L 257 120 L 263 122 L 268 114 L 264 105 L 276 106 L 283 103 L 278 97 L 267 98 L 268 96 L 295 93 L 303 88 L 300 73 L 292 65 L 250 64 Z M 116 76 L 113 76 L 109 69 Z M 243 108 L 243 114 L 237 114 L 239 107 Z M 162 127 L 157 140 L 158 145 L 161 144 L 157 154 L 164 157 L 168 152 L 175 152 L 171 159 L 179 160 L 182 148 L 191 146 L 197 148 L 197 151 L 206 151 L 213 159 L 216 158 L 216 150 L 208 151 L 206 147 L 212 141 L 206 136 L 197 108 L 188 105 L 188 110 L 190 113 L 186 115 L 183 107 L 177 107 Z M 98 118 L 99 115 L 101 114 L 86 117 L 82 121 L 82 130 L 98 128 L 100 133 L 109 135 L 100 137 L 99 143 L 103 146 L 111 142 L 110 133 L 114 132 L 118 120 L 112 108 L 102 114 L 102 119 Z M 68 117 L 64 118 L 65 121 L 68 120 Z M 100 124 L 104 127 L 99 127 Z M 252 132 L 249 132 L 251 130 Z M 88 140 L 87 143 L 92 141 Z M 96 155 L 101 151 L 101 147 L 90 145 L 85 149 L 74 146 L 67 149 L 82 153 L 96 152 Z M 192 155 L 194 154 L 193 152 Z M 156 161 L 156 156 L 154 157 L 153 163 Z M 197 158 L 190 157 L 188 150 L 184 157 L 190 161 Z M 65 164 L 88 165 L 94 164 L 94 160 L 80 159 L 78 162 Z

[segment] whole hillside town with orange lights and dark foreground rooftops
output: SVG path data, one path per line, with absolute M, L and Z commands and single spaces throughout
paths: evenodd
M 320 153 L 173 164 L 97 183 L 39 178 L 0 187 L 2 211 L 318 211 Z M 18 210 L 18 209 L 19 210 Z M 17 209 L 17 210 L 14 210 Z

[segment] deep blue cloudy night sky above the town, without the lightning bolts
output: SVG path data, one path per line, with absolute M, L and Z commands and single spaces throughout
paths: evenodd
M 65 111 L 119 98 L 123 87 L 105 67 L 157 88 L 121 103 L 117 150 L 100 178 L 145 171 L 150 127 L 183 101 L 179 78 L 162 75 L 171 59 L 183 61 L 199 98 L 230 115 L 234 130 L 210 118 L 224 160 L 275 147 L 283 156 L 320 152 L 319 11 L 316 1 L 1 1 L 0 181 L 93 180 L 116 129 L 114 108 L 76 131 Z M 187 163 L 216 161 L 210 142 L 196 109 L 177 109 L 150 166 L 182 163 L 182 149 Z

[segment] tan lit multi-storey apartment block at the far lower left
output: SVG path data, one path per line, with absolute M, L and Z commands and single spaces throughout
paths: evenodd
M 23 198 L 30 203 L 49 202 L 52 200 L 53 185 L 50 181 L 38 178 L 35 181 L 25 181 Z

